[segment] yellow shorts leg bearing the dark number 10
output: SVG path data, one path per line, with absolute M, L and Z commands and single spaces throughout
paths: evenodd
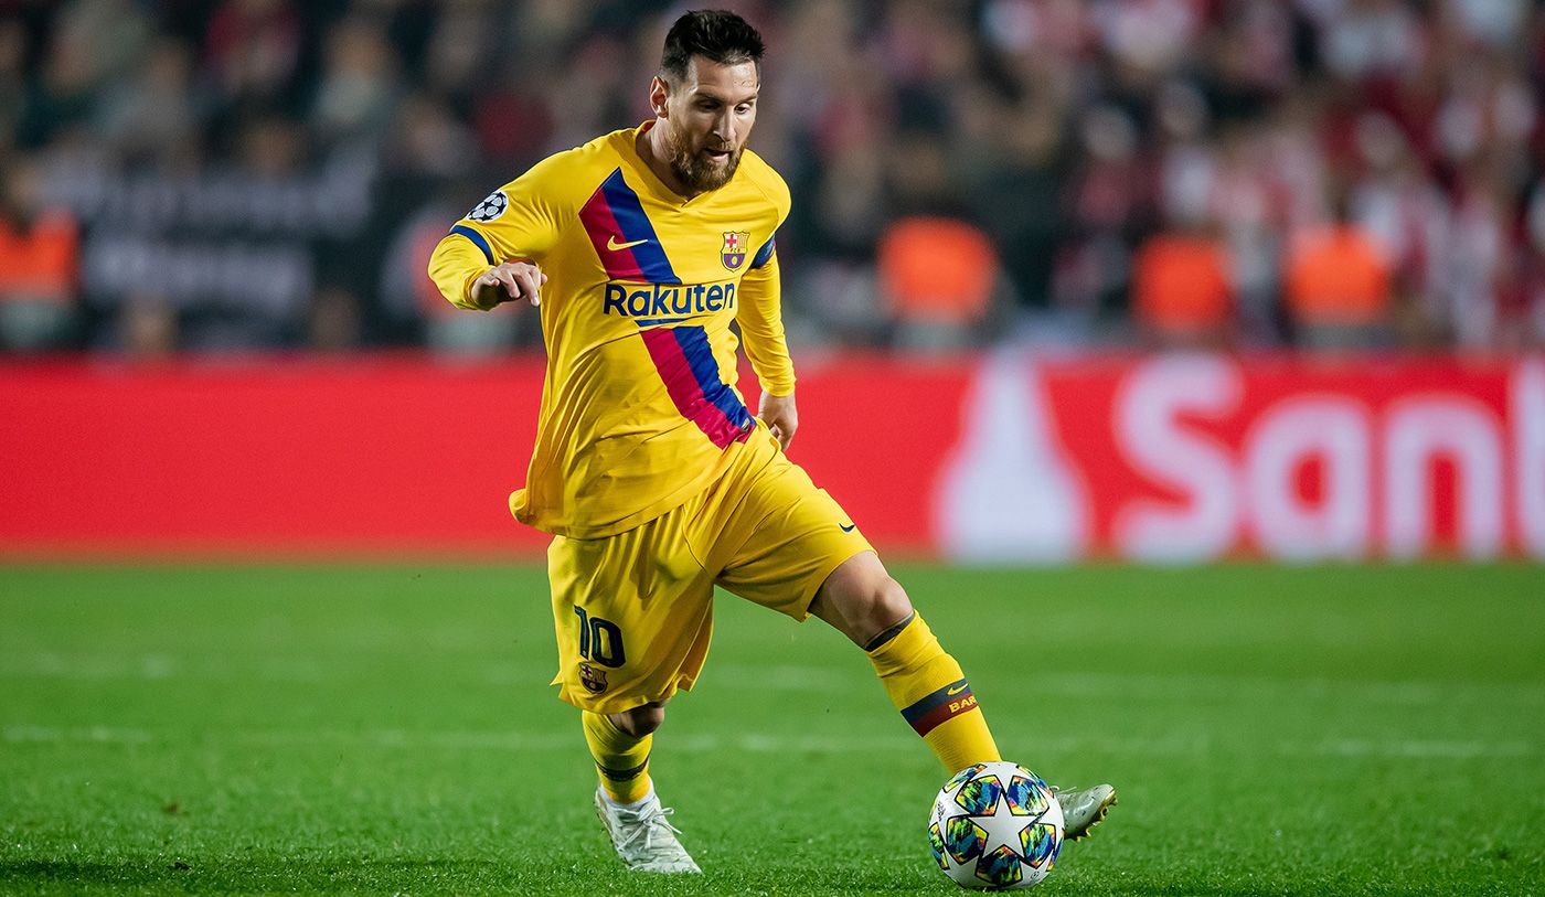
M 689 689 L 712 633 L 712 579 L 671 523 L 547 551 L 559 696 L 618 713 Z

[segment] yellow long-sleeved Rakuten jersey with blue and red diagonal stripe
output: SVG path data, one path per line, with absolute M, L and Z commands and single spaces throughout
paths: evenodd
M 745 150 L 729 184 L 683 199 L 638 156 L 652 125 L 538 162 L 430 259 L 440 292 L 468 309 L 496 264 L 527 259 L 548 276 L 536 446 L 510 511 L 559 536 L 646 523 L 728 468 L 757 426 L 735 389 L 731 321 L 763 388 L 794 391 L 772 238 L 788 185 Z

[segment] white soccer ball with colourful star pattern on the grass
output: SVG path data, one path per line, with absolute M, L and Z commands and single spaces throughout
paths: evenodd
M 1061 852 L 1061 806 L 1038 775 L 1017 763 L 967 766 L 933 798 L 929 849 L 961 888 L 1006 891 L 1038 885 Z

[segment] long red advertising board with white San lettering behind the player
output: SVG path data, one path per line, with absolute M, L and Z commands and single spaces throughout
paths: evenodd
M 1545 557 L 1545 358 L 799 361 L 791 454 L 882 551 Z M 505 497 L 541 378 L 541 358 L 6 363 L 0 553 L 535 557 Z

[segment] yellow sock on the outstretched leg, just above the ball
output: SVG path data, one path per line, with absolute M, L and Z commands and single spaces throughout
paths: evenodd
M 913 613 L 864 645 L 902 718 L 938 755 L 946 772 L 1001 760 L 987 719 L 955 658 Z

